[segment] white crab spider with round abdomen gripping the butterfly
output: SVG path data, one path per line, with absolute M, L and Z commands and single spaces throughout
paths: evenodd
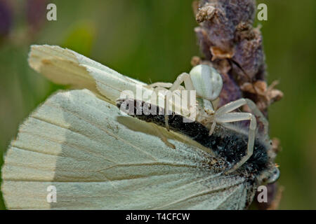
M 171 83 L 154 83 L 149 87 L 154 87 L 154 90 L 166 90 L 169 88 L 171 92 L 174 90 L 183 90 L 184 83 L 185 90 L 195 90 L 197 95 L 197 118 L 199 123 L 202 123 L 209 128 L 211 135 L 216 127 L 216 124 L 223 125 L 225 123 L 232 123 L 241 120 L 250 120 L 249 133 L 248 133 L 248 145 L 247 152 L 244 157 L 237 162 L 228 172 L 233 172 L 241 167 L 252 155 L 254 151 L 254 142 L 256 137 L 256 117 L 264 125 L 265 140 L 269 141 L 268 138 L 268 120 L 265 119 L 261 111 L 257 108 L 256 104 L 250 99 L 237 99 L 234 102 L 230 102 L 221 106 L 219 109 L 214 109 L 218 96 L 223 87 L 223 80 L 211 66 L 199 64 L 195 66 L 190 74 L 181 73 L 176 81 Z M 248 105 L 251 111 L 254 113 L 245 112 L 232 112 L 238 109 L 240 106 Z M 188 105 L 190 106 L 190 105 Z M 168 123 L 168 116 L 166 115 L 166 125 Z

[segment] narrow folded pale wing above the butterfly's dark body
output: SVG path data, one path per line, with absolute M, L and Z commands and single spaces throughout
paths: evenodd
M 54 83 L 71 85 L 79 89 L 86 88 L 111 104 L 116 103 L 124 90 L 130 90 L 133 93 L 132 96 L 129 94 L 130 97 L 135 99 L 142 97 L 143 101 L 151 100 L 152 90 L 145 87 L 147 84 L 123 76 L 84 55 L 56 45 L 32 45 L 29 65 Z M 145 91 L 147 94 L 144 94 Z M 161 93 L 159 96 L 164 99 Z M 157 102 L 152 103 L 157 104 Z M 177 111 L 182 110 L 183 114 L 188 114 L 188 109 L 173 104 L 172 98 L 170 102 Z M 164 104 L 161 106 L 164 107 Z

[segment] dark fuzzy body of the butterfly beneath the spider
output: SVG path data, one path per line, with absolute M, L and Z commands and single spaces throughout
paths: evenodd
M 117 107 L 122 111 L 140 120 L 164 127 L 165 116 L 161 113 L 164 109 L 159 108 L 159 106 L 157 106 L 157 113 L 154 115 L 136 113 L 138 106 L 144 107 L 145 104 L 147 103 L 140 102 L 137 99 L 117 100 Z M 131 105 L 134 106 L 132 110 L 129 109 Z M 229 165 L 234 165 L 246 154 L 248 136 L 243 131 L 217 125 L 213 134 L 209 135 L 209 129 L 201 123 L 197 121 L 183 122 L 183 116 L 174 112 L 170 112 L 168 122 L 170 130 L 185 134 L 202 146 L 210 148 L 216 155 L 224 158 Z M 238 172 L 243 176 L 254 178 L 261 174 L 263 170 L 268 169 L 269 166 L 272 166 L 272 164 L 268 157 L 268 146 L 264 141 L 256 138 L 253 155 L 238 169 Z

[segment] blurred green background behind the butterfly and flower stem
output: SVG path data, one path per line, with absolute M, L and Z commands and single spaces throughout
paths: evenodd
M 0 0 L 0 165 L 18 125 L 60 86 L 27 64 L 32 43 L 61 45 L 144 82 L 172 82 L 200 55 L 192 0 Z M 279 209 L 316 209 L 315 0 L 258 0 L 268 6 L 262 25 L 268 83 L 280 80 L 284 99 L 270 106 L 270 137 L 284 193 Z M 0 196 L 0 209 L 5 209 Z

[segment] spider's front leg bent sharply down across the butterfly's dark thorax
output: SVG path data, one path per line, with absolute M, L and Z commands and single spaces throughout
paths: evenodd
M 254 152 L 254 141 L 256 136 L 256 117 L 252 113 L 221 113 L 216 115 L 216 123 L 230 123 L 240 120 L 250 120 L 249 134 L 248 134 L 248 146 L 246 155 L 237 162 L 234 167 L 228 170 L 227 173 L 234 172 L 236 169 L 241 167 L 244 162 L 246 162 Z

